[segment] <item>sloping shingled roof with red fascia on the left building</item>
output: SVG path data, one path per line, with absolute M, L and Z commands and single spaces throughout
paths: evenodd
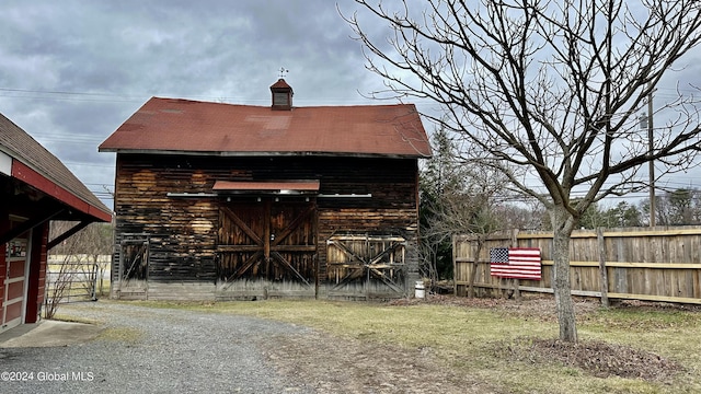
M 112 211 L 70 170 L 12 120 L 0 114 L 0 152 L 12 159 L 10 175 L 102 221 Z

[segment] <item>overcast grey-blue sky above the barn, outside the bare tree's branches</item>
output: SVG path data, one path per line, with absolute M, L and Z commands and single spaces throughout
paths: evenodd
M 269 105 L 284 67 L 295 105 L 379 104 L 360 94 L 382 81 L 336 2 L 356 10 L 352 0 L 2 0 L 0 113 L 112 207 L 115 158 L 97 146 L 151 96 Z M 701 79 L 701 61 L 687 63 Z M 699 183 L 682 174 L 669 186 Z

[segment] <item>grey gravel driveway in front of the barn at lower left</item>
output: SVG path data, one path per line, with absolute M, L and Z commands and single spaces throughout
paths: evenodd
M 96 339 L 69 347 L 0 349 L 0 393 L 313 393 L 266 361 L 271 343 L 309 328 L 244 316 L 110 302 L 61 306 L 99 320 Z M 7 376 L 5 376 L 7 378 Z

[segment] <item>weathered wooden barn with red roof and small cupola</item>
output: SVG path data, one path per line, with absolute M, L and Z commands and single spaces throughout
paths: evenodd
M 417 274 L 414 105 L 269 106 L 152 97 L 116 152 L 112 296 L 391 299 Z

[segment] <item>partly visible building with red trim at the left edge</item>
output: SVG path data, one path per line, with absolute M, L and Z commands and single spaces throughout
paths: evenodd
M 112 212 L 55 155 L 0 115 L 0 332 L 36 323 L 47 252 Z M 49 222 L 76 222 L 48 240 Z

